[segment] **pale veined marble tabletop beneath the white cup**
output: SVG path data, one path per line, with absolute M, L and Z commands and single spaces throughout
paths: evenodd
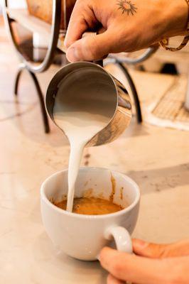
M 99 263 L 58 253 L 45 234 L 40 213 L 41 182 L 68 167 L 69 146 L 53 126 L 43 133 L 40 107 L 27 74 L 18 101 L 13 80 L 18 61 L 0 29 L 0 283 L 103 284 Z M 123 80 L 114 67 L 109 70 Z M 56 71 L 39 76 L 43 90 Z M 143 105 L 173 84 L 173 77 L 132 71 Z M 85 150 L 82 165 L 119 170 L 141 188 L 134 236 L 171 242 L 189 236 L 189 133 L 155 126 L 131 126 L 114 143 Z M 88 154 L 88 155 L 86 155 Z M 82 228 L 81 228 L 82 229 Z

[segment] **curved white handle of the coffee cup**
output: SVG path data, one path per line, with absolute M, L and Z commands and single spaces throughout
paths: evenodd
M 133 253 L 133 246 L 129 232 L 122 226 L 112 226 L 105 232 L 105 238 L 114 238 L 118 251 Z

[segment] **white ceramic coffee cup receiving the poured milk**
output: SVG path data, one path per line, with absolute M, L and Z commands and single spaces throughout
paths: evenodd
M 61 201 L 68 192 L 68 170 L 51 175 L 41 186 L 41 214 L 45 230 L 60 251 L 82 261 L 95 261 L 114 239 L 119 251 L 132 252 L 130 234 L 139 214 L 140 192 L 126 175 L 105 168 L 80 168 L 75 197 L 92 189 L 93 197 L 109 199 L 115 180 L 114 203 L 129 207 L 104 215 L 66 212 L 50 200 Z

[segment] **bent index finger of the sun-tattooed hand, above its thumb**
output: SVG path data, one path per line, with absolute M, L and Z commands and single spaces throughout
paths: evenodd
M 70 17 L 68 31 L 65 36 L 64 45 L 69 48 L 72 43 L 82 38 L 82 34 L 89 28 L 94 28 L 97 19 L 90 7 L 83 7 L 82 1 L 77 1 Z

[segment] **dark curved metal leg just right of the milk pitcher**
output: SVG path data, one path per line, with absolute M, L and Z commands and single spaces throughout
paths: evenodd
M 143 120 L 142 119 L 142 114 L 141 114 L 141 105 L 140 105 L 140 102 L 139 102 L 139 95 L 138 95 L 138 93 L 136 91 L 136 87 L 134 85 L 134 82 L 133 82 L 133 80 L 131 78 L 131 75 L 129 74 L 128 70 L 124 66 L 124 64 L 121 63 L 121 62 L 117 62 L 117 65 L 119 66 L 121 71 L 124 72 L 124 75 L 126 76 L 126 79 L 129 82 L 129 85 L 131 87 L 131 92 L 132 92 L 133 97 L 134 97 L 134 104 L 135 104 L 135 107 L 136 107 L 137 121 L 139 122 L 139 124 L 141 124 L 141 122 Z

